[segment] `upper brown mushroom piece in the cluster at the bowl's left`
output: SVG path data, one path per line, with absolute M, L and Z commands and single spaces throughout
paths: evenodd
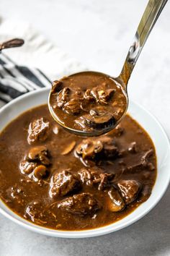
M 45 146 L 31 148 L 26 158 L 32 162 L 42 163 L 45 166 L 50 165 L 50 155 Z

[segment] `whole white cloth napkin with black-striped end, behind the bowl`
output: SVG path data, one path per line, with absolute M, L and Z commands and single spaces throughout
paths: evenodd
M 1 22 L 1 42 L 12 38 L 23 38 L 25 43 L 0 54 L 0 106 L 31 90 L 50 87 L 52 80 L 85 69 L 25 22 Z

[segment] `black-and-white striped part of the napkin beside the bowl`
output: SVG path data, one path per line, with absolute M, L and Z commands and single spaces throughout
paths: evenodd
M 40 69 L 19 66 L 5 54 L 0 55 L 1 103 L 8 103 L 31 90 L 50 87 L 50 84 L 51 81 Z

